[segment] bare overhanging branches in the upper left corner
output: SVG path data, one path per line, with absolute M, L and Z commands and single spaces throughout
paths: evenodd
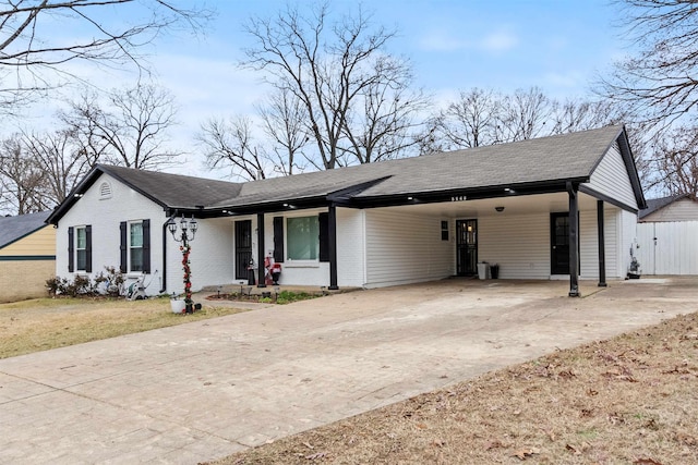
M 65 64 L 89 61 L 143 71 L 140 50 L 166 30 L 198 32 L 210 16 L 177 0 L 2 0 L 0 1 L 0 109 L 56 85 Z M 62 39 L 60 24 L 72 30 Z M 80 32 L 80 34 L 77 34 Z M 4 103 L 4 105 L 3 105 Z M 8 107 L 10 106 L 10 107 Z

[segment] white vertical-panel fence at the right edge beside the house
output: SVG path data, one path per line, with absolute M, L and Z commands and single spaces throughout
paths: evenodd
M 637 224 L 643 274 L 698 274 L 698 221 Z

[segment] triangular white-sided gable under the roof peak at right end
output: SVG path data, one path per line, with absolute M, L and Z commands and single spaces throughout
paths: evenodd
M 637 209 L 637 200 L 617 144 L 611 146 L 604 155 L 591 174 L 589 186 L 600 194 Z

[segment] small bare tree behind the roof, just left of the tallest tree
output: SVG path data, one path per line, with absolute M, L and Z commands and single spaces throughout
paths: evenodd
M 250 119 L 208 120 L 197 138 L 208 168 L 229 168 L 232 175 L 248 181 L 266 178 L 265 156 L 254 143 Z

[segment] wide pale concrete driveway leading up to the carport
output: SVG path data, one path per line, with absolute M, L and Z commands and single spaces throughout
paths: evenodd
M 195 464 L 698 309 L 698 279 L 446 280 L 0 360 L 0 463 Z

